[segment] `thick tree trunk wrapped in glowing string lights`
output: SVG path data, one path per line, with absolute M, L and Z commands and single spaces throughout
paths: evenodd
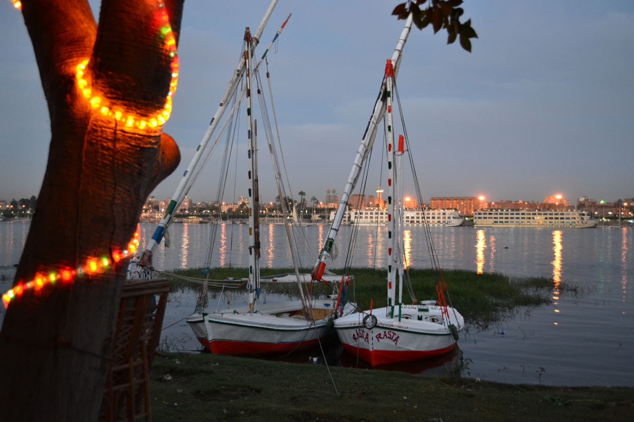
M 183 1 L 165 0 L 174 34 Z M 110 103 L 141 116 L 160 110 L 172 71 L 158 5 L 104 0 L 97 26 L 86 0 L 22 1 L 51 143 L 14 285 L 124 249 L 145 199 L 178 165 L 178 147 L 160 126 L 129 129 L 101 115 L 75 77 L 75 67 L 89 58 L 93 89 Z M 125 274 L 122 262 L 103 274 L 27 291 L 10 303 L 0 334 L 0 419 L 97 418 Z

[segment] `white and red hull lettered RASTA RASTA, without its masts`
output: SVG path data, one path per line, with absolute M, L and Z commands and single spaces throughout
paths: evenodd
M 457 339 L 448 324 L 442 323 L 440 307 L 403 305 L 401 321 L 398 309 L 395 317 L 385 316 L 386 312 L 387 308 L 381 308 L 373 310 L 372 316 L 370 312 L 363 312 L 335 320 L 335 329 L 344 350 L 377 366 L 442 355 L 456 345 Z M 451 308 L 449 314 L 450 324 L 456 327 L 457 333 L 462 330 L 464 319 Z M 370 317 L 376 318 L 374 326 Z

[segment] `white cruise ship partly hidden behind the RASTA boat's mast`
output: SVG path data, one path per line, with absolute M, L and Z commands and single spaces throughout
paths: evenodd
M 335 212 L 330 212 L 330 220 Z M 406 209 L 403 226 L 455 227 L 460 226 L 465 219 L 456 210 L 421 210 Z M 386 208 L 361 208 L 346 211 L 342 224 L 357 224 L 358 226 L 387 226 Z

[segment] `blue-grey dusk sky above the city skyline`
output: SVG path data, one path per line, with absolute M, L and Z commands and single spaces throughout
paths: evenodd
M 292 13 L 268 69 L 295 199 L 343 191 L 403 29 L 391 16 L 398 3 L 276 6 L 256 56 Z M 98 4 L 91 1 L 96 14 Z M 255 32 L 268 4 L 185 2 L 178 90 L 164 127 L 181 165 L 154 196 L 174 193 L 238 63 L 245 27 Z M 444 31 L 413 29 L 398 75 L 424 201 L 634 197 L 634 2 L 467 0 L 463 8 L 462 21 L 471 18 L 479 36 L 472 53 L 446 45 Z M 39 196 L 50 122 L 29 35 L 9 0 L 0 1 L 0 39 L 0 199 L 10 201 Z M 262 184 L 270 160 L 260 160 Z M 194 201 L 216 196 L 217 164 L 208 167 L 188 195 Z M 237 196 L 245 195 L 242 179 Z M 272 182 L 261 187 L 262 201 L 276 195 Z

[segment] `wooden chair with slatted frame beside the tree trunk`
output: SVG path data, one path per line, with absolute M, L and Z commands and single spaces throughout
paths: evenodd
M 168 293 L 165 279 L 135 279 L 124 285 L 100 412 L 105 422 L 152 421 L 149 372 Z

